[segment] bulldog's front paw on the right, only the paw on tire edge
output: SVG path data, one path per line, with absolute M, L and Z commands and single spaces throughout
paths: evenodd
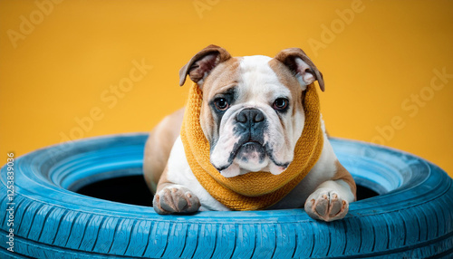
M 348 210 L 348 201 L 332 189 L 318 189 L 305 202 L 305 212 L 309 216 L 326 222 L 342 219 Z

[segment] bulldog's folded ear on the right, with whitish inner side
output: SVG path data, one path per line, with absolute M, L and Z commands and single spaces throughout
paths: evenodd
M 284 49 L 275 56 L 283 62 L 305 86 L 318 81 L 319 87 L 324 91 L 323 73 L 319 72 L 312 60 L 299 48 Z

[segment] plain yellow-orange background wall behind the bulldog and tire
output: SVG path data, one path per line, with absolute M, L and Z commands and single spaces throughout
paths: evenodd
M 179 68 L 216 43 L 233 55 L 303 48 L 324 74 L 331 135 L 453 176 L 451 1 L 54 1 L 0 0 L 0 164 L 62 136 L 148 131 L 186 101 Z M 134 61 L 152 69 L 114 95 Z

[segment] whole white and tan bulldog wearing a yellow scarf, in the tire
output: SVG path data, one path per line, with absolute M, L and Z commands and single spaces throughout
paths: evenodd
M 356 186 L 317 115 L 323 74 L 304 51 L 232 57 L 209 45 L 181 68 L 179 85 L 187 75 L 199 100 L 162 120 L 145 146 L 157 213 L 304 207 L 317 220 L 346 216 Z

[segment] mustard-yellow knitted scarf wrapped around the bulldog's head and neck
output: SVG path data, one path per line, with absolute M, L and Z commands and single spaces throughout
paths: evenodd
M 249 172 L 223 177 L 209 161 L 209 143 L 199 123 L 203 92 L 198 84 L 189 91 L 181 140 L 195 177 L 207 192 L 232 210 L 258 210 L 275 205 L 310 172 L 323 150 L 319 99 L 314 84 L 303 97 L 305 123 L 294 148 L 294 160 L 281 174 Z

